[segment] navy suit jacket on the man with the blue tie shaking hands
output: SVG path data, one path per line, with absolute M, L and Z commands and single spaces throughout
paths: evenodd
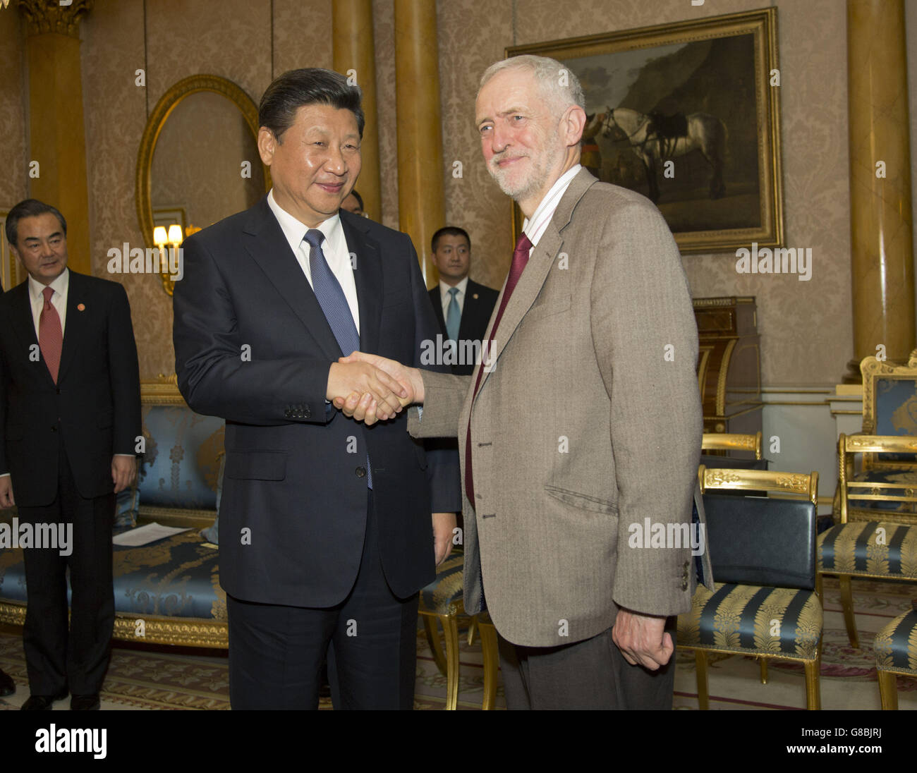
M 340 218 L 356 260 L 360 349 L 420 364 L 436 321 L 410 237 L 345 211 Z M 267 197 L 183 248 L 179 388 L 194 411 L 226 419 L 223 588 L 252 602 L 342 602 L 363 550 L 367 452 L 385 577 L 401 597 L 431 582 L 430 513 L 459 509 L 458 458 L 427 458 L 406 431 L 406 411 L 367 427 L 326 405 L 328 370 L 342 352 Z

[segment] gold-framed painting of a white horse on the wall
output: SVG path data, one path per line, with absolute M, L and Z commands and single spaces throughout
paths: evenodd
M 782 245 L 777 8 L 506 50 L 524 53 L 580 79 L 580 162 L 651 199 L 682 253 Z

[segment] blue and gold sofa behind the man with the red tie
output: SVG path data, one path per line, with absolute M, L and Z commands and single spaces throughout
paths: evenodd
M 116 533 L 156 522 L 190 527 L 142 547 L 114 547 L 115 638 L 226 648 L 226 593 L 212 538 L 224 423 L 195 414 L 175 378 L 141 384 L 145 452 L 137 485 L 118 497 Z M 10 521 L 15 511 L 3 519 Z M 211 531 L 201 530 L 210 527 Z M 26 620 L 22 550 L 0 550 L 0 623 Z

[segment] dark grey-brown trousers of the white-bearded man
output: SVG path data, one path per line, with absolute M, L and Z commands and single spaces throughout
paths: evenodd
M 675 640 L 676 618 L 666 630 Z M 507 709 L 671 709 L 675 653 L 657 671 L 631 666 L 612 629 L 569 645 L 517 646 L 501 635 L 500 668 Z

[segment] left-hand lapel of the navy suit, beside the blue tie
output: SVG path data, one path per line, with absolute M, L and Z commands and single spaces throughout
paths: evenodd
M 303 269 L 290 249 L 290 243 L 283 236 L 277 218 L 271 212 L 267 196 L 252 207 L 249 221 L 243 227 L 246 235 L 246 251 L 260 266 L 261 271 L 281 294 L 283 300 L 293 309 L 310 335 L 315 338 L 322 353 L 334 362 L 341 356 L 337 338 L 328 325 L 325 313 L 305 278 Z M 69 315 L 69 311 L 68 311 Z M 70 321 L 68 318 L 68 326 Z

